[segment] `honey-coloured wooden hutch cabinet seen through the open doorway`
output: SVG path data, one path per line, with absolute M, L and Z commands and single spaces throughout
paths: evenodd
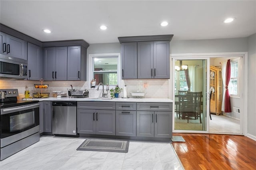
M 220 67 L 210 66 L 210 91 L 211 90 L 210 113 L 222 115 L 222 74 Z

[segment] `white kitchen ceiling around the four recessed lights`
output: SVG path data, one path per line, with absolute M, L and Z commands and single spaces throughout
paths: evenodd
M 228 17 L 236 20 L 224 24 Z M 161 27 L 162 21 L 169 25 Z M 42 42 L 112 43 L 164 34 L 174 34 L 172 40 L 241 38 L 256 33 L 256 0 L 0 0 L 0 23 Z M 108 29 L 100 30 L 102 24 Z

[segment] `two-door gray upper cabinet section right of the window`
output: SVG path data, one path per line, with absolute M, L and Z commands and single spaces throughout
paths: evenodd
M 138 79 L 170 79 L 170 42 L 138 42 Z

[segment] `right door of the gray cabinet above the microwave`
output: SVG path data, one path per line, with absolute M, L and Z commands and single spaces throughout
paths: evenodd
M 27 60 L 27 42 L 6 34 L 6 54 Z

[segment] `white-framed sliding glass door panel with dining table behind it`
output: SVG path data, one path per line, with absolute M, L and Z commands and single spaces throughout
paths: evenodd
M 208 58 L 173 58 L 174 132 L 209 131 L 208 67 Z

